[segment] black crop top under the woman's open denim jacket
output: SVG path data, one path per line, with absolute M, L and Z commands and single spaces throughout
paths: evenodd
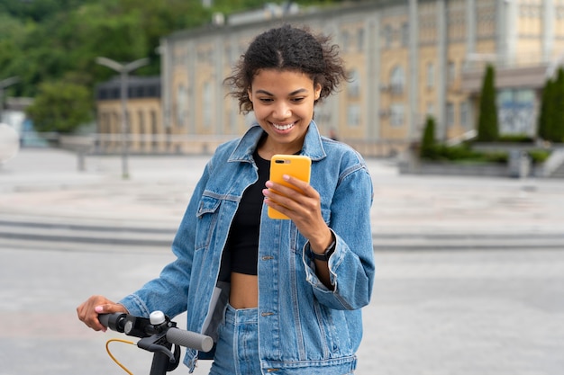
M 262 189 L 268 181 L 270 161 L 260 157 L 256 150 L 252 156 L 259 168 L 259 180 L 243 192 L 239 208 L 233 217 L 227 244 L 223 250 L 220 281 L 229 281 L 231 272 L 257 274 L 260 212 L 264 201 Z

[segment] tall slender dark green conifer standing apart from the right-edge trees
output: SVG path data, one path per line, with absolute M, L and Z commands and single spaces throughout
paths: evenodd
M 487 65 L 480 95 L 478 115 L 478 141 L 492 142 L 499 138 L 496 104 L 496 71 Z

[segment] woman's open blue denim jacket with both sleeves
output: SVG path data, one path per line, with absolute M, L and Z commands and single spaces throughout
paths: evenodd
M 177 259 L 158 279 L 122 299 L 131 314 L 170 317 L 186 311 L 186 328 L 202 332 L 222 251 L 244 190 L 258 179 L 252 153 L 263 130 L 251 127 L 218 147 L 205 166 L 172 244 Z M 356 368 L 362 336 L 360 309 L 370 300 L 374 257 L 370 230 L 373 189 L 367 166 L 352 148 L 322 138 L 314 121 L 302 155 L 312 159 L 311 185 L 323 219 L 337 239 L 328 290 L 315 274 L 309 244 L 291 220 L 268 219 L 259 235 L 259 355 L 263 371 L 344 374 Z M 216 313 L 217 314 L 217 313 Z M 203 353 L 200 354 L 202 356 Z M 186 350 L 194 371 L 198 353 Z

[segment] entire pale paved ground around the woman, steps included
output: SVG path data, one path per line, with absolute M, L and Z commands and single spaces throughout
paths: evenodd
M 86 329 L 74 309 L 93 293 L 120 298 L 170 260 L 207 158 L 131 157 L 129 180 L 119 157 L 89 156 L 79 172 L 53 150 L 0 168 L 0 375 L 123 373 L 104 345 L 127 337 Z M 564 181 L 368 165 L 378 272 L 357 373 L 562 373 Z M 149 353 L 112 345 L 149 372 Z

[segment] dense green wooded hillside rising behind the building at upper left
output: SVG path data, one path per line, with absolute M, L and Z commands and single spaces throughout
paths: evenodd
M 135 75 L 156 76 L 160 38 L 209 24 L 214 12 L 229 16 L 265 2 L 214 0 L 213 4 L 204 8 L 201 0 L 0 0 L 0 79 L 18 76 L 20 82 L 10 86 L 10 94 L 37 95 L 41 103 L 45 93 L 40 88 L 49 87 L 45 82 L 79 85 L 93 93 L 97 83 L 114 76 L 114 71 L 96 64 L 98 56 L 121 62 L 150 58 L 150 65 Z M 94 106 L 93 94 L 78 97 L 86 102 L 76 103 L 77 108 Z

